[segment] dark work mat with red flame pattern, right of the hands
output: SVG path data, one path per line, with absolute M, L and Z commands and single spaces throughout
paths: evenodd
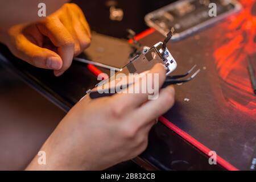
M 255 8 L 245 3 L 225 22 L 168 44 L 178 65 L 174 74 L 195 64 L 201 72 L 175 86 L 175 106 L 164 117 L 238 169 L 249 169 L 256 143 L 256 96 L 246 69 L 248 57 L 256 63 Z M 154 32 L 140 42 L 152 46 L 163 39 Z

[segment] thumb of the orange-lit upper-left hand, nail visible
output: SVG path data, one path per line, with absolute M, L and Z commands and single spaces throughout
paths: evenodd
M 9 47 L 15 56 L 38 68 L 58 70 L 62 67 L 62 59 L 57 53 L 36 46 L 24 35 L 20 35 L 18 39 L 15 46 Z

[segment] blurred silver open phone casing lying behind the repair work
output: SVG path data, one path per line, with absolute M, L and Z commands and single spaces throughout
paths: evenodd
M 174 27 L 172 39 L 180 40 L 238 12 L 241 7 L 236 0 L 180 0 L 147 14 L 144 19 L 164 36 Z M 216 8 L 215 16 L 210 14 L 212 8 Z

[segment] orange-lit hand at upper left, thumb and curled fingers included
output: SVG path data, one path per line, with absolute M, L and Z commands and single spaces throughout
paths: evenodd
M 65 3 L 40 22 L 13 26 L 1 36 L 16 57 L 35 67 L 53 69 L 56 76 L 70 67 L 73 56 L 87 48 L 90 40 L 84 14 L 73 3 Z

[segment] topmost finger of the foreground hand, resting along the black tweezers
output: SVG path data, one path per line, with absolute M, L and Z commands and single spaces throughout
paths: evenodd
M 144 78 L 144 80 L 143 80 Z M 132 107 L 141 106 L 145 101 L 148 100 L 148 96 L 150 95 L 149 91 L 158 92 L 160 87 L 163 85 L 163 82 L 166 78 L 166 70 L 164 69 L 162 64 L 156 64 L 146 75 L 140 78 L 137 82 L 133 85 L 130 85 L 128 88 L 135 92 L 136 89 L 146 89 L 146 93 L 139 92 L 139 93 L 121 93 L 115 94 L 113 96 L 113 102 L 116 104 L 124 104 L 126 105 L 127 109 Z M 146 88 L 145 88 L 146 87 Z M 152 88 L 156 87 L 156 88 Z M 148 88 L 152 88 L 149 90 Z M 154 93 L 151 93 L 154 94 Z

